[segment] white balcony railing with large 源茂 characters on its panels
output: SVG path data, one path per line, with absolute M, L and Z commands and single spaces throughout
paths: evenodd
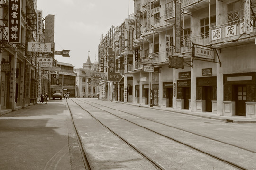
M 250 27 L 250 35 L 243 35 L 243 37 L 249 37 L 256 34 L 256 22 L 254 21 L 253 17 L 251 17 L 251 23 L 253 26 Z M 211 43 L 217 43 L 237 40 L 244 33 L 244 29 L 244 19 L 211 27 L 210 41 Z

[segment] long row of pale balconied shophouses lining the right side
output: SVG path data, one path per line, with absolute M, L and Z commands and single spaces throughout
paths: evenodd
M 124 92 L 119 89 L 113 99 L 121 101 L 123 93 L 124 102 L 256 118 L 255 5 L 255 0 L 134 0 L 124 34 L 105 45 L 124 44 L 116 53 L 116 63 L 125 64 Z M 116 81 L 117 87 L 121 83 Z

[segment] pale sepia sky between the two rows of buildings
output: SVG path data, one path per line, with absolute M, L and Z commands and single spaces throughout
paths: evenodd
M 82 68 L 90 51 L 91 63 L 98 60 L 101 34 L 120 26 L 133 13 L 133 0 L 37 0 L 43 18 L 55 15 L 55 50 L 70 50 L 70 57 L 55 55 L 59 62 Z

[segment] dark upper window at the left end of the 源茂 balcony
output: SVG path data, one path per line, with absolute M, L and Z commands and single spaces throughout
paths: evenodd
M 210 17 L 210 27 L 216 25 L 216 16 Z M 200 34 L 201 37 L 209 36 L 209 18 L 200 19 Z

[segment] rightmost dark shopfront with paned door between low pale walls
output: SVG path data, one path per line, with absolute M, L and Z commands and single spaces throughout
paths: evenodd
M 230 116 L 255 115 L 256 87 L 255 72 L 224 74 L 224 115 L 228 112 Z M 227 110 L 226 108 L 229 108 Z

